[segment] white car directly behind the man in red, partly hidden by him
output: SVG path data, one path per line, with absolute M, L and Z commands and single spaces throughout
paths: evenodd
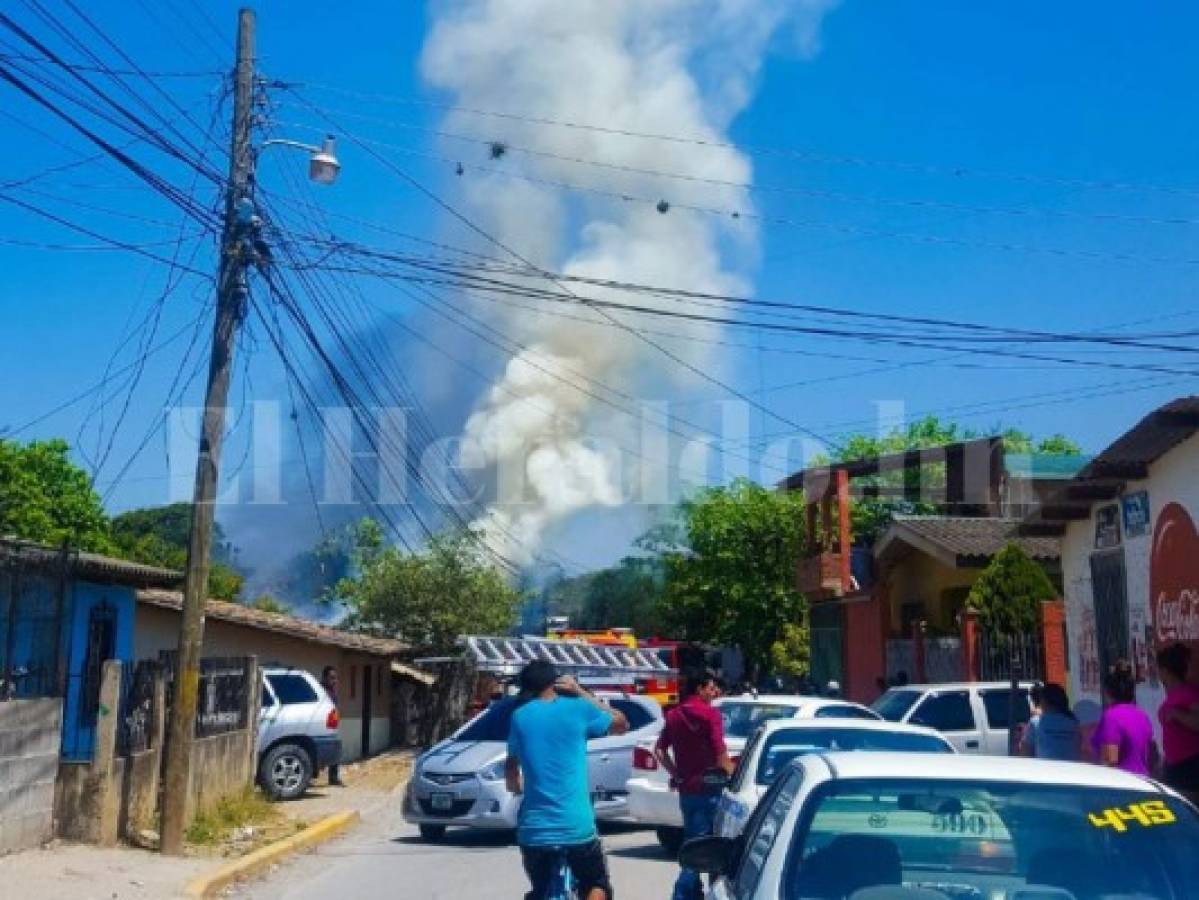
M 848 700 L 759 694 L 721 697 L 713 706 L 724 723 L 724 743 L 735 760 L 746 742 L 764 723 L 773 719 L 864 719 L 881 721 L 873 709 Z M 682 842 L 682 814 L 670 778 L 653 757 L 655 741 L 639 741 L 633 749 L 633 777 L 628 791 L 628 816 L 657 830 L 658 842 L 673 856 Z

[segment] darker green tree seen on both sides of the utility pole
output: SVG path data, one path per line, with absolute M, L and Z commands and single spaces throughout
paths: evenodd
M 187 566 L 191 530 L 191 503 L 131 509 L 113 518 L 113 552 L 147 566 L 182 570 Z M 233 555 L 224 530 L 219 523 L 213 523 L 209 596 L 218 600 L 235 600 L 245 584 L 245 578 L 230 564 Z

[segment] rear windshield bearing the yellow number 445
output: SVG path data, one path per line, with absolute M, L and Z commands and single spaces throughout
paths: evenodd
M 1181 900 L 1195 846 L 1194 811 L 1155 793 L 846 779 L 808 801 L 781 896 Z

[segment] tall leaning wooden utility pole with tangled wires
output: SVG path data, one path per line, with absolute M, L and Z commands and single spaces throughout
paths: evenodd
M 212 520 L 221 445 L 224 439 L 225 404 L 233 374 L 234 342 L 246 313 L 246 264 L 249 253 L 246 237 L 249 223 L 241 213 L 242 201 L 249 197 L 254 169 L 251 144 L 253 96 L 254 12 L 241 10 L 237 14 L 237 60 L 234 70 L 233 146 L 217 273 L 217 315 L 209 387 L 204 400 L 204 429 L 195 463 L 192 531 L 187 544 L 187 576 L 179 623 L 175 690 L 167 731 L 167 771 L 162 792 L 161 846 L 164 853 L 176 856 L 183 852 L 183 815 L 191 792 L 192 743 L 195 737 L 200 652 L 204 646 L 204 605 L 209 591 L 209 557 L 212 551 Z M 257 690 L 257 685 L 249 685 L 249 690 Z M 249 726 L 253 727 L 253 723 Z

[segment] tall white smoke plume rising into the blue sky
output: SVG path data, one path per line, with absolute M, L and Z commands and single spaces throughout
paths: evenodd
M 800 54 L 815 53 L 820 22 L 836 1 L 445 0 L 433 7 L 422 70 L 463 109 L 724 144 L 729 123 L 753 96 L 767 48 L 779 41 Z M 748 292 L 755 235 L 746 219 L 677 209 L 748 210 L 743 189 L 578 165 L 519 149 L 742 183 L 752 177 L 745 155 L 465 111 L 446 119 L 447 131 L 512 147 L 496 168 L 603 192 L 669 197 L 674 204 L 662 213 L 652 204 L 470 171 L 462 186 L 471 218 L 535 265 L 687 290 Z M 456 152 L 464 152 L 460 144 Z M 579 292 L 604 297 L 598 289 Z M 496 549 L 526 562 L 555 521 L 588 507 L 617 506 L 626 496 L 622 477 L 635 460 L 627 454 L 616 459 L 592 439 L 635 445 L 633 424 L 578 389 L 605 393 L 584 376 L 626 394 L 640 389 L 657 397 L 699 380 L 616 328 L 496 310 L 505 331 L 519 334 L 528 350 L 510 361 L 482 398 L 466 422 L 464 443 L 475 461 L 518 472 L 524 482 L 522 502 L 500 496 L 481 525 Z M 582 308 L 570 312 L 602 320 Z M 719 360 L 707 358 L 704 348 L 670 344 L 689 363 L 719 374 Z

